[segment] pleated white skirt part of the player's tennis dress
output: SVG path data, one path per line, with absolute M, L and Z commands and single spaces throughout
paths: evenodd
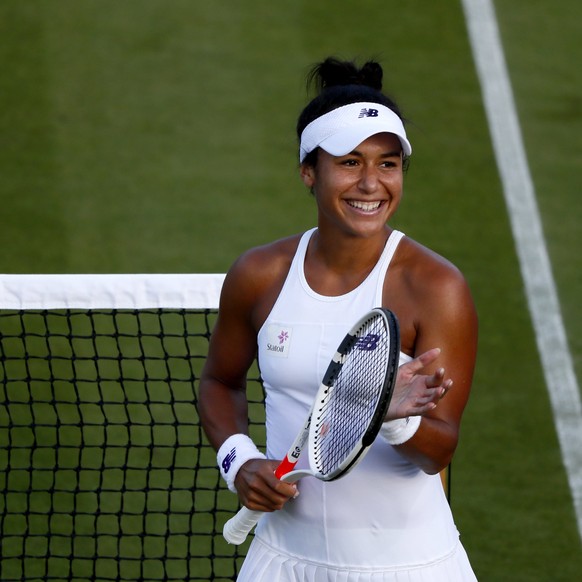
M 238 582 L 476 582 L 459 542 L 448 556 L 408 569 L 347 571 L 282 555 L 255 537 Z

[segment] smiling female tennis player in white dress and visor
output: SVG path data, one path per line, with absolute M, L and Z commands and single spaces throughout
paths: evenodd
M 390 226 L 412 147 L 382 76 L 373 61 L 329 58 L 313 69 L 318 91 L 297 135 L 316 226 L 244 253 L 222 290 L 200 414 L 228 487 L 266 512 L 239 581 L 475 580 L 439 472 L 469 398 L 477 317 L 461 273 Z M 379 436 L 342 479 L 280 481 L 274 471 L 338 342 L 380 306 L 398 317 L 401 353 Z M 245 378 L 255 357 L 266 455 L 248 437 Z

